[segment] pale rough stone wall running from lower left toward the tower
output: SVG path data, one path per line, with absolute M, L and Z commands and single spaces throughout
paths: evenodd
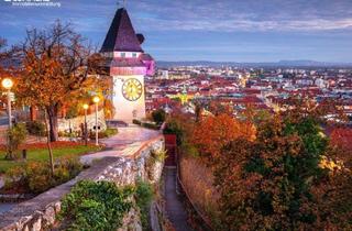
M 106 157 L 94 162 L 91 167 L 81 172 L 75 179 L 22 202 L 9 212 L 1 215 L 0 231 L 50 230 L 61 211 L 61 199 L 78 180 L 109 180 L 118 186 L 135 184 L 138 178 L 150 180 L 146 161 L 153 150 L 164 148 L 164 138 L 160 135 L 143 143 L 141 148 L 130 157 Z M 152 182 L 160 180 L 162 170 L 163 164 L 153 167 Z M 141 230 L 138 224 L 140 224 L 138 212 L 130 211 L 124 219 L 123 227 L 129 227 L 129 230 L 131 230 L 130 228 Z

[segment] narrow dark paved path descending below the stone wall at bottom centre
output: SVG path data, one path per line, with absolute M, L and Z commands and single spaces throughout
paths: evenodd
M 176 168 L 165 167 L 166 213 L 176 231 L 191 231 L 182 198 L 176 194 Z

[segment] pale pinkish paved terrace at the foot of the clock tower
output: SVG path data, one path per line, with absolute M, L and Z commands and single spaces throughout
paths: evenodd
M 158 131 L 140 127 L 119 128 L 119 133 L 112 138 L 100 140 L 108 151 L 102 151 L 80 157 L 82 164 L 89 165 L 94 160 L 103 157 L 120 157 L 133 155 L 145 141 L 157 138 Z

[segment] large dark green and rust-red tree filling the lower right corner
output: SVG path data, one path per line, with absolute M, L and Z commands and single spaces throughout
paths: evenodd
M 215 166 L 221 229 L 351 228 L 351 177 L 320 166 L 330 152 L 319 118 L 309 113 L 275 117 L 254 141 L 230 142 Z

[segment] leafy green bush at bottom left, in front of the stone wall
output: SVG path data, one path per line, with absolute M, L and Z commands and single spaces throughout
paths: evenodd
M 61 217 L 69 221 L 69 230 L 114 231 L 132 207 L 132 193 L 109 182 L 79 182 L 63 199 Z

